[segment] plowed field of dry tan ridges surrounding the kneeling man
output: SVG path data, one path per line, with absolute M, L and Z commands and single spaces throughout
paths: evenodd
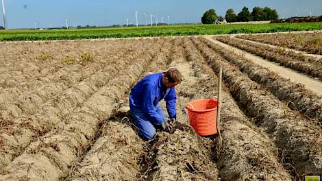
M 322 97 L 206 38 L 1 43 L 0 53 L 0 180 L 322 176 Z M 298 61 L 322 77 L 315 60 Z M 198 136 L 185 106 L 216 98 L 219 64 L 221 137 Z M 184 77 L 179 126 L 145 142 L 127 114 L 129 91 L 169 67 Z

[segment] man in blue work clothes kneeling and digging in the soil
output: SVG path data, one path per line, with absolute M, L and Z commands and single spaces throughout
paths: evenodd
M 170 68 L 166 72 L 143 77 L 132 88 L 129 94 L 129 108 L 138 132 L 145 141 L 153 138 L 157 129 L 170 131 L 170 125 L 176 119 L 175 101 L 177 96 L 175 86 L 181 81 L 181 73 L 175 68 Z M 158 104 L 162 99 L 166 101 L 169 121 Z

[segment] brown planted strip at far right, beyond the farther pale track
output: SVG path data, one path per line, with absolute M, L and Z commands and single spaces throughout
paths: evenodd
M 238 35 L 238 38 L 252 40 L 260 43 L 267 43 L 280 47 L 288 47 L 299 51 L 306 51 L 312 54 L 322 55 L 321 44 L 314 42 L 314 38 L 322 36 L 321 32 L 310 32 L 305 34 L 256 34 L 256 35 Z

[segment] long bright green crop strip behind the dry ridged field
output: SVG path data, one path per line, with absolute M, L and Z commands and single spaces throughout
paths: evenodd
M 184 36 L 206 34 L 268 33 L 322 29 L 322 23 L 271 23 L 239 25 L 171 25 L 153 27 L 111 27 L 92 29 L 3 30 L 0 41 L 72 40 L 146 36 Z

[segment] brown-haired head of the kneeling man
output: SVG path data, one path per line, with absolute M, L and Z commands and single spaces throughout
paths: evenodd
M 166 86 L 166 88 L 173 88 L 177 84 L 180 84 L 181 82 L 182 82 L 182 75 L 177 69 L 170 68 L 163 73 L 162 83 L 164 86 Z

